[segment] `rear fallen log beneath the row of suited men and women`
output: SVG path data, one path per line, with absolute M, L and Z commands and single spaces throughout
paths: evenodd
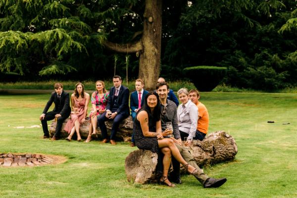
M 68 121 L 67 118 L 62 125 L 62 129 L 61 129 L 61 138 L 66 138 L 69 134 L 64 130 L 64 127 Z M 107 128 L 107 133 L 108 135 L 110 135 L 110 131 L 111 131 L 111 127 L 112 127 L 112 121 L 106 121 L 106 128 Z M 89 124 L 90 124 L 90 119 L 86 119 L 84 124 L 80 125 L 79 131 L 80 131 L 80 135 L 83 139 L 87 139 L 88 135 L 89 135 Z M 49 127 L 49 133 L 50 133 L 50 137 L 52 137 L 55 133 L 55 128 L 56 128 L 57 122 L 53 119 L 51 122 L 51 125 Z M 119 129 L 116 133 L 116 138 L 117 140 L 123 140 L 124 142 L 129 142 L 131 141 L 131 136 L 132 136 L 132 131 L 133 131 L 133 120 L 132 117 L 129 116 L 128 118 L 126 118 L 125 120 L 122 121 L 122 123 L 119 126 Z M 75 139 L 76 135 L 74 135 L 74 139 Z M 92 136 L 93 139 L 98 139 L 98 138 L 102 138 L 101 136 L 101 131 L 100 128 L 97 128 L 97 135 L 93 135 Z

